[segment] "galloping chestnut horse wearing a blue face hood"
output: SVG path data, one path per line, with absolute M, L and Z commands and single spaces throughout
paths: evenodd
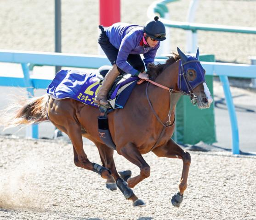
M 153 152 L 158 157 L 178 158 L 183 161 L 178 192 L 171 203 L 179 207 L 187 188 L 190 154 L 183 150 L 171 136 L 174 132 L 175 107 L 181 94 L 187 94 L 198 108 L 209 108 L 212 102 L 205 82 L 205 70 L 196 56 L 185 55 L 179 48 L 165 64 L 149 64 L 150 82 L 136 85 L 124 109 L 108 113 L 109 131 L 118 154 L 140 168 L 137 176 L 130 170 L 118 172 L 114 163 L 114 150 L 99 137 L 97 117 L 99 110 L 74 99 L 53 99 L 43 95 L 23 104 L 12 118 L 3 116 L 5 126 L 34 124 L 51 121 L 65 132 L 73 144 L 74 164 L 99 174 L 110 190 L 117 187 L 133 206 L 144 205 L 131 188 L 150 176 L 150 166 L 142 154 Z M 6 120 L 5 120 L 6 119 Z M 166 122 L 165 122 L 166 121 Z M 85 154 L 82 137 L 91 140 L 98 149 L 102 165 L 91 162 Z M 166 168 L 169 169 L 169 168 Z

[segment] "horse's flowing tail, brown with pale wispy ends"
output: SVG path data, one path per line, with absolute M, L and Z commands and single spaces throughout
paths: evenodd
M 4 129 L 47 121 L 48 96 L 19 100 L 1 111 L 0 124 Z

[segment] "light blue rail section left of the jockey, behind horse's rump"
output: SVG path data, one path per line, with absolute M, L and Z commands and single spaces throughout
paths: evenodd
M 0 77 L 0 86 L 12 86 L 27 88 L 28 97 L 34 96 L 33 88 L 46 88 L 51 80 L 30 78 L 30 63 L 45 66 L 70 66 L 84 68 L 99 68 L 110 65 L 104 56 L 72 55 L 63 53 L 25 52 L 15 50 L 0 50 L 0 61 L 20 63 L 23 69 L 23 78 Z M 26 137 L 38 138 L 38 125 L 26 128 Z

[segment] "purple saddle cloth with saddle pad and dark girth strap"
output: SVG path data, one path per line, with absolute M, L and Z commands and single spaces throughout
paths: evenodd
M 86 73 L 78 70 L 61 70 L 57 72 L 46 93 L 53 99 L 75 99 L 83 104 L 99 107 L 94 103 L 95 95 L 100 88 L 101 76 L 96 73 Z M 112 149 L 116 146 L 108 130 L 107 114 L 111 110 L 124 108 L 132 89 L 136 86 L 138 77 L 125 74 L 118 77 L 108 93 L 110 110 L 103 110 L 103 115 L 98 117 L 98 132 L 102 141 Z M 102 107 L 100 107 L 100 111 Z

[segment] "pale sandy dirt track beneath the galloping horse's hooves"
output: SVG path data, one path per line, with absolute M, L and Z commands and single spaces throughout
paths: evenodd
M 84 146 L 100 163 L 97 148 Z M 0 219 L 36 220 L 256 220 L 256 156 L 190 152 L 188 189 L 180 208 L 171 205 L 182 172 L 179 159 L 144 155 L 151 176 L 134 188 L 147 204 L 134 208 L 96 173 L 77 168 L 72 145 L 0 137 Z M 118 170 L 139 170 L 115 154 Z M 167 168 L 167 169 L 166 169 Z

